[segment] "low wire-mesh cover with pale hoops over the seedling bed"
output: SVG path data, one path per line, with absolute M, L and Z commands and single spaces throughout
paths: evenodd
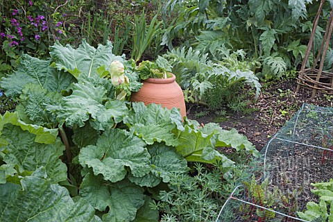
M 216 222 L 305 221 L 298 218 L 296 211 L 305 210 L 309 201 L 318 203 L 311 193 L 311 183 L 333 178 L 332 146 L 333 108 L 303 104 L 262 149 L 263 173 L 257 179 L 268 180 L 269 191 L 279 189 L 281 194 L 293 195 L 297 210 L 258 204 L 247 195 L 246 187 L 239 185 L 221 208 Z

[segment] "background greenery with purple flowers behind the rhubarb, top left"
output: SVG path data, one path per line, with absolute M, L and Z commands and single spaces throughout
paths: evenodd
M 159 5 L 158 1 L 128 0 L 3 1 L 0 5 L 0 77 L 17 67 L 23 53 L 46 58 L 49 45 L 56 40 L 73 46 L 78 46 L 83 38 L 93 46 L 112 40 L 114 54 L 129 55 L 133 46 L 137 46 L 132 40 L 136 15 L 145 9 L 144 22 L 150 22 L 154 15 L 160 15 Z M 145 28 L 142 29 L 145 31 Z M 142 47 L 143 44 L 146 45 Z M 141 57 L 146 49 L 159 44 L 143 42 L 135 50 L 139 50 Z

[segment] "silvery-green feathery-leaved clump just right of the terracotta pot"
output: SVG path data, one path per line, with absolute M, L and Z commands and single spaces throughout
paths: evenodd
M 244 56 L 244 51 L 237 53 Z M 239 111 L 246 106 L 239 103 L 244 85 L 255 88 L 255 97 L 259 96 L 261 85 L 250 70 L 252 66 L 237 60 L 237 53 L 232 53 L 223 62 L 214 62 L 207 53 L 202 54 L 192 48 L 173 49 L 164 56 L 171 63 L 180 86 L 191 92 L 189 96 L 187 91 L 187 99 L 208 105 L 212 110 L 229 105 L 234 111 Z M 232 106 L 235 104 L 238 105 Z

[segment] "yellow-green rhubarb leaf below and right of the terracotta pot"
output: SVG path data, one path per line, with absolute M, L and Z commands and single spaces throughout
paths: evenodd
M 223 167 L 230 168 L 234 164 L 228 157 L 215 150 L 217 135 L 211 133 L 206 135 L 200 130 L 194 130 L 190 126 L 185 126 L 185 131 L 180 133 L 180 144 L 176 147 L 189 162 L 214 163 L 221 161 Z

